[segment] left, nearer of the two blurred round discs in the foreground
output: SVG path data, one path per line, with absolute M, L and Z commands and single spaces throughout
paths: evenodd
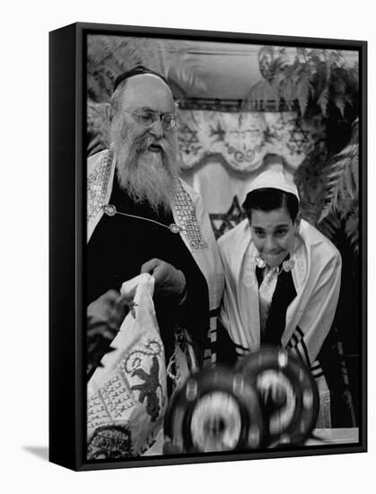
M 165 434 L 181 452 L 254 449 L 262 443 L 263 427 L 256 389 L 224 368 L 191 375 L 165 417 Z

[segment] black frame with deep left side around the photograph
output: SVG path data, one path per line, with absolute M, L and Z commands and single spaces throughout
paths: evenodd
M 86 37 L 90 34 L 350 49 L 359 54 L 359 441 L 247 453 L 178 454 L 88 462 L 84 256 L 86 234 Z M 367 43 L 218 31 L 74 23 L 49 34 L 49 460 L 75 471 L 367 451 Z

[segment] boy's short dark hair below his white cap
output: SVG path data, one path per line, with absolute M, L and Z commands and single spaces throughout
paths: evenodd
M 251 219 L 252 209 L 273 211 L 280 207 L 286 207 L 294 222 L 299 212 L 299 200 L 290 192 L 273 189 L 272 187 L 252 190 L 247 194 L 247 198 L 243 202 L 243 209 L 247 213 L 247 216 L 249 216 L 249 219 Z

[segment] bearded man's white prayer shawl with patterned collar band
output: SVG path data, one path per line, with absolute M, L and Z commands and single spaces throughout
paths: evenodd
M 87 163 L 87 241 L 103 216 L 103 206 L 109 203 L 114 179 L 116 157 L 112 150 L 101 151 Z M 210 310 L 218 308 L 223 295 L 223 269 L 214 238 L 212 225 L 202 199 L 184 181 L 176 183 L 176 198 L 172 215 L 179 233 L 209 289 Z M 126 281 L 126 280 L 124 280 Z M 212 322 L 211 322 L 212 324 Z

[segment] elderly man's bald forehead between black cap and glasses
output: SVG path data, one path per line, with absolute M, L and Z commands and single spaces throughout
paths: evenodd
M 151 110 L 174 109 L 171 89 L 158 75 L 134 75 L 127 80 L 122 97 L 123 105 Z M 168 108 L 166 108 L 168 107 Z

